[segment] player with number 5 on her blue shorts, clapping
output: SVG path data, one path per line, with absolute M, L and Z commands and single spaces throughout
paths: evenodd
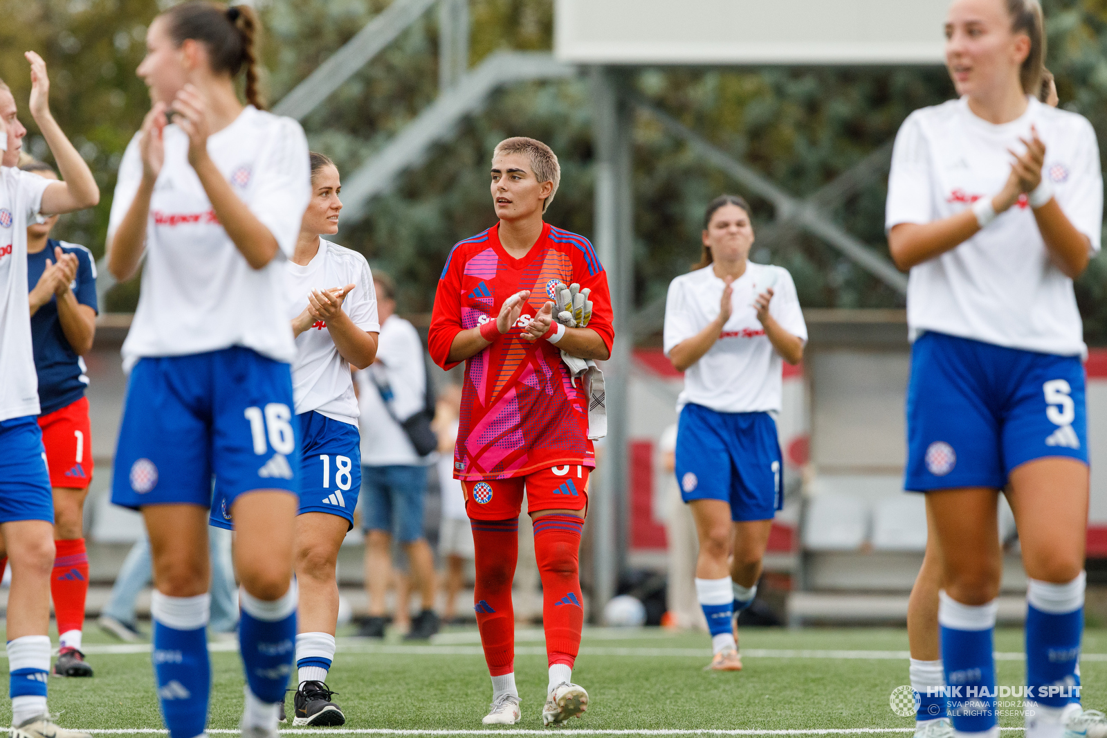
M 992 631 L 1005 490 L 1030 578 L 1027 735 L 1059 736 L 1066 722 L 1084 735 L 1068 707 L 1088 509 L 1086 348 L 1072 280 L 1099 248 L 1098 145 L 1085 119 L 1034 98 L 1045 53 L 1036 0 L 955 0 L 945 33 L 961 99 L 900 129 L 886 225 L 892 257 L 911 269 L 904 485 L 928 493 L 941 554 L 949 711 L 955 734 L 999 732 Z

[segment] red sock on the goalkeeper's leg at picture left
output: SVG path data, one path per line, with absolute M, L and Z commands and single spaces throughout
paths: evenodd
M 477 581 L 473 598 L 480 645 L 492 676 L 515 670 L 515 609 L 511 580 L 519 560 L 519 519 L 474 520 Z

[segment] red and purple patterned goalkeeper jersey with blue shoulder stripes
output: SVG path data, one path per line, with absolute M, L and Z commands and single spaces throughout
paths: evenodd
M 596 467 L 581 381 L 570 381 L 557 346 L 528 344 L 520 335 L 554 299 L 557 283 L 578 283 L 592 290 L 588 327 L 610 351 L 614 331 L 607 273 L 583 236 L 545 224 L 530 252 L 516 259 L 504 250 L 497 232 L 498 224 L 454 246 L 434 298 L 427 344 L 435 362 L 451 369 L 459 363 L 447 360 L 458 332 L 495 320 L 504 300 L 530 290 L 511 330 L 465 365 L 454 476 L 507 479 L 565 464 Z

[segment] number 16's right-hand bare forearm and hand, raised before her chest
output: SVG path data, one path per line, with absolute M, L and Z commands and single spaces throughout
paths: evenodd
M 277 256 L 280 247 L 272 233 L 246 206 L 207 152 L 207 107 L 190 84 L 177 93 L 174 122 L 188 135 L 188 163 L 196 170 L 211 208 L 230 236 L 235 247 L 255 269 L 261 269 Z

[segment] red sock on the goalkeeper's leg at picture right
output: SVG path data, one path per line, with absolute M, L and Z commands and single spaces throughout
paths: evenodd
M 542 577 L 542 626 L 550 666 L 572 668 L 584 626 L 580 592 L 580 531 L 575 515 L 544 515 L 535 520 L 535 557 Z

